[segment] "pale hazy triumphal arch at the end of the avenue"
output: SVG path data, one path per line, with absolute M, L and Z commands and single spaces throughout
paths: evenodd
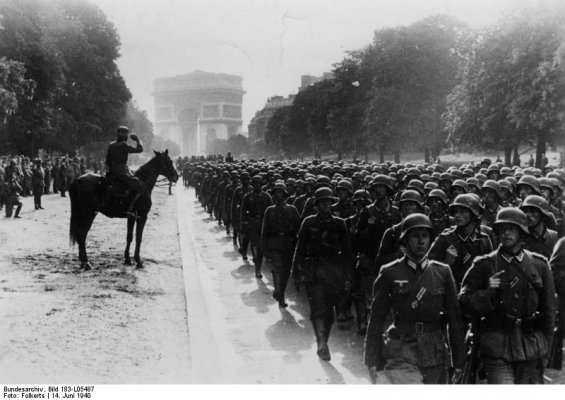
M 155 133 L 183 155 L 206 155 L 242 130 L 243 79 L 195 71 L 154 81 Z

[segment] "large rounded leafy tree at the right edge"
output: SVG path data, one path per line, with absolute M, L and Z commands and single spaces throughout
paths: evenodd
M 518 9 L 477 35 L 444 115 L 452 144 L 503 148 L 505 162 L 524 141 L 537 160 L 562 132 L 563 12 Z

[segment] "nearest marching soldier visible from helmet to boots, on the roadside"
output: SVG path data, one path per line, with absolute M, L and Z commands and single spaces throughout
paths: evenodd
M 300 227 L 294 252 L 292 274 L 301 277 L 310 303 L 317 354 L 331 359 L 328 338 L 338 299 L 351 289 L 353 263 L 351 242 L 343 219 L 331 213 L 335 197 L 330 188 L 315 193 L 317 213 L 307 217 Z

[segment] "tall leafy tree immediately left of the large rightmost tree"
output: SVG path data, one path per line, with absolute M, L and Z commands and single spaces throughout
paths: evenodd
M 445 99 L 455 84 L 458 48 L 468 28 L 446 16 L 377 31 L 363 56 L 372 77 L 365 129 L 369 144 L 400 152 L 409 144 L 429 158 L 445 142 Z M 426 160 L 428 161 L 428 160 Z

